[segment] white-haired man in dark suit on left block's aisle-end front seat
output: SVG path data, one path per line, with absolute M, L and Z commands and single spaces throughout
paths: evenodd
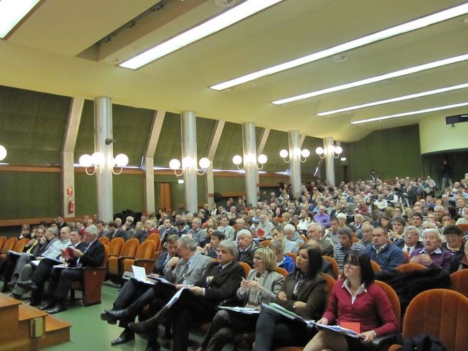
M 64 268 L 60 271 L 57 278 L 51 276 L 49 292 L 54 292 L 55 307 L 47 310 L 47 313 L 59 313 L 66 310 L 66 297 L 70 290 L 71 283 L 82 280 L 82 267 L 98 267 L 103 262 L 104 245 L 97 240 L 98 229 L 93 224 L 85 229 L 85 249 L 73 250 L 73 255 L 78 257 L 73 268 Z M 57 284 L 57 285 L 55 285 Z

